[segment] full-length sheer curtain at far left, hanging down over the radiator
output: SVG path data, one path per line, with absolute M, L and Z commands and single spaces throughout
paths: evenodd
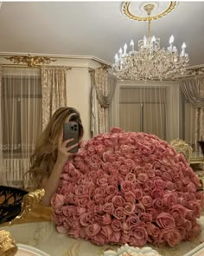
M 40 69 L 2 68 L 2 184 L 29 187 L 29 158 L 41 134 Z

